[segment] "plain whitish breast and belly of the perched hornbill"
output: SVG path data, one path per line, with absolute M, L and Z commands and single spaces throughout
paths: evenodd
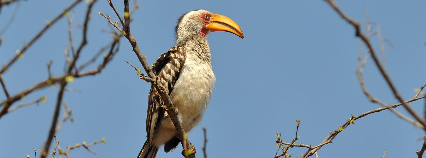
M 215 81 L 210 63 L 187 58 L 170 94 L 173 104 L 178 107 L 185 131 L 191 130 L 201 121 Z

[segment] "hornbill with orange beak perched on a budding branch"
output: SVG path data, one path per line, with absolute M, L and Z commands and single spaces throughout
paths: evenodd
M 164 85 L 166 93 L 179 109 L 178 118 L 184 131 L 199 124 L 210 101 L 216 82 L 211 65 L 210 32 L 225 31 L 241 38 L 244 35 L 232 19 L 206 10 L 183 14 L 175 26 L 176 46 L 160 55 L 151 70 Z M 164 115 L 164 103 L 154 86 L 148 96 L 147 140 L 138 158 L 155 158 L 158 148 L 164 152 L 176 149 L 180 140 L 170 117 Z

